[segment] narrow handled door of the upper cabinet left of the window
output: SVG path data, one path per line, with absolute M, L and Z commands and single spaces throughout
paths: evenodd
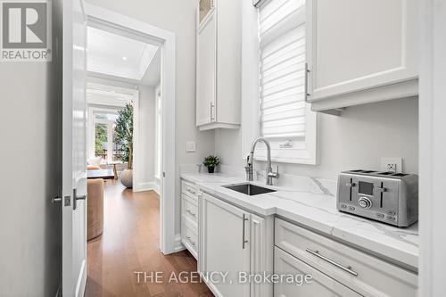
M 217 77 L 217 21 L 215 12 L 197 29 L 196 40 L 196 125 L 215 119 Z

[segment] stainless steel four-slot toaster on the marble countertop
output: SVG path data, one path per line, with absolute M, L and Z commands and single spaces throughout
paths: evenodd
M 418 220 L 418 177 L 364 169 L 343 171 L 338 178 L 337 209 L 408 227 Z

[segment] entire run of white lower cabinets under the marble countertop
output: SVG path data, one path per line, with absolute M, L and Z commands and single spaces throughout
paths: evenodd
M 197 256 L 198 270 L 216 296 L 417 296 L 416 272 L 182 186 L 191 188 L 182 197 L 182 242 Z M 281 279 L 271 282 L 271 275 Z

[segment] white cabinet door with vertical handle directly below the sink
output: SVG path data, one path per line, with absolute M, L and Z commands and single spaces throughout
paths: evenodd
M 202 195 L 201 211 L 201 272 L 228 273 L 225 283 L 213 275 L 208 286 L 217 296 L 249 296 L 250 285 L 240 284 L 238 277 L 239 272 L 250 273 L 250 214 L 208 194 Z

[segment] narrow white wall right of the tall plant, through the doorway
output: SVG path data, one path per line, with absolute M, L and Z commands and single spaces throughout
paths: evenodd
M 139 189 L 153 188 L 155 181 L 155 89 L 139 86 Z

